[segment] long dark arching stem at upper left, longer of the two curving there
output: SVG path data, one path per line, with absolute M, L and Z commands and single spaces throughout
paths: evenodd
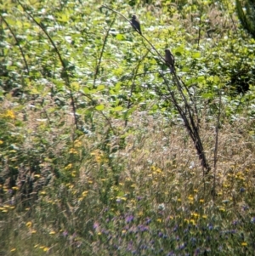
M 20 3 L 20 1 L 18 1 L 18 3 Z M 20 3 L 20 6 L 25 10 L 26 14 L 31 18 L 31 20 L 33 20 L 37 26 L 39 26 L 42 31 L 44 32 L 44 34 L 46 35 L 46 37 L 48 37 L 48 40 L 49 42 L 52 44 L 52 46 L 54 47 L 54 50 L 56 52 L 56 54 L 58 55 L 59 57 L 59 60 L 61 62 L 61 65 L 62 65 L 62 68 L 63 68 L 63 71 L 65 73 L 65 85 L 66 87 L 68 87 L 70 89 L 70 98 L 71 98 L 71 107 L 72 107 L 72 112 L 73 112 L 73 116 L 74 116 L 74 121 L 75 121 L 75 125 L 76 125 L 76 128 L 78 128 L 78 121 L 77 121 L 77 110 L 76 110 L 76 105 L 75 105 L 75 100 L 74 100 L 74 97 L 73 97 L 73 94 L 72 94 L 72 91 L 71 91 L 71 86 L 70 86 L 70 81 L 69 81 L 69 76 L 68 76 L 68 73 L 66 71 L 66 66 L 65 66 L 65 62 L 64 60 L 62 59 L 61 57 L 61 54 L 59 53 L 59 49 L 57 48 L 57 46 L 55 45 L 54 41 L 52 40 L 52 38 L 49 36 L 48 34 L 48 31 L 44 28 L 44 26 L 42 26 L 41 23 L 37 22 L 37 20 L 34 19 L 34 17 L 29 14 L 27 11 L 26 11 L 26 7 Z

